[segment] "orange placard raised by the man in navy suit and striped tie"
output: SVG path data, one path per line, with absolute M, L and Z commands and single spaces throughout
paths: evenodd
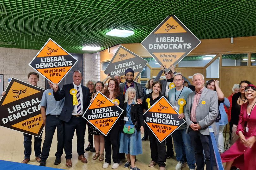
M 77 60 L 51 38 L 28 64 L 47 80 L 59 84 Z

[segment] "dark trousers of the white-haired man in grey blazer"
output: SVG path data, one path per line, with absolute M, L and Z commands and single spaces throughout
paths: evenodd
M 203 135 L 199 131 L 193 131 L 189 128 L 189 136 L 194 146 L 195 159 L 197 163 L 197 170 L 204 170 L 204 155 L 206 170 L 210 170 L 210 145 L 209 136 Z M 203 154 L 204 150 L 204 154 Z

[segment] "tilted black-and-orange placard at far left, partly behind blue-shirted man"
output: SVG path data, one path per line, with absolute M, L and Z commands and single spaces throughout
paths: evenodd
M 44 91 L 12 78 L 0 101 L 0 126 L 39 137 L 44 127 L 40 111 Z

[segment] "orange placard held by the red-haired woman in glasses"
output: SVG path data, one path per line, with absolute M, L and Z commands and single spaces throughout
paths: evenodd
M 123 109 L 119 106 L 115 106 L 114 103 L 101 92 L 97 92 L 93 103 L 91 103 L 84 112 L 83 118 L 91 123 L 104 136 L 107 136 L 123 111 Z

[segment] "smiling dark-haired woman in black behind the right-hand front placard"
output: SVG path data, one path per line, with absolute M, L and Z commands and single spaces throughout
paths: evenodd
M 160 99 L 163 95 L 161 94 L 162 91 L 162 84 L 160 81 L 155 81 L 152 84 L 152 92 L 144 96 L 142 107 L 143 107 L 143 113 L 145 113 L 148 108 L 147 99 L 149 99 L 150 106 L 152 106 L 155 102 L 157 102 L 158 99 Z M 167 97 L 166 97 L 167 98 Z M 158 163 L 160 170 L 165 170 L 165 142 L 160 143 L 153 132 L 149 128 L 148 135 L 149 135 L 149 144 L 150 144 L 150 150 L 151 150 L 151 161 L 149 162 L 149 167 L 154 167 L 155 164 Z

